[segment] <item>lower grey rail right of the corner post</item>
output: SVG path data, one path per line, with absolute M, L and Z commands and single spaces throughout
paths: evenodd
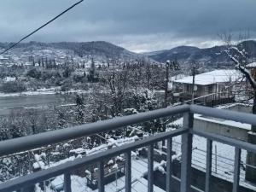
M 194 131 L 191 131 L 191 133 L 201 136 L 201 137 L 206 137 L 206 138 L 211 139 L 216 142 L 229 144 L 233 147 L 246 149 L 247 151 L 250 151 L 250 152 L 253 152 L 256 154 L 256 145 L 251 144 L 251 143 L 242 142 L 241 140 L 237 140 L 237 139 L 234 139 L 231 137 L 224 137 L 224 136 L 220 136 L 220 135 L 217 135 L 214 133 L 208 133 L 208 132 L 203 132 L 203 131 L 195 131 L 194 130 Z

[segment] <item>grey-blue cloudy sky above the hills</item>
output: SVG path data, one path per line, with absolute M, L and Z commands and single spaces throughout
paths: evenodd
M 76 0 L 3 0 L 0 42 L 15 42 Z M 132 51 L 220 44 L 218 32 L 250 31 L 256 0 L 85 0 L 28 41 L 104 40 Z

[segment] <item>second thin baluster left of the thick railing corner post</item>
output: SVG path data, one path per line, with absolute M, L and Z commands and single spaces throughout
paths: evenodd
M 154 189 L 154 144 L 148 146 L 148 192 Z

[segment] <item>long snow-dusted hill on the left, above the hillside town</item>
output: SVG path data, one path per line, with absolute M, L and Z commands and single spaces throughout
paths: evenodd
M 6 49 L 13 43 L 0 43 L 0 48 Z M 133 53 L 127 49 L 119 47 L 114 44 L 110 44 L 104 41 L 95 42 L 84 42 L 84 43 L 74 43 L 74 42 L 61 42 L 61 43 L 39 43 L 39 42 L 29 42 L 22 43 L 11 49 L 9 53 L 38 50 L 38 49 L 66 49 L 73 51 L 75 55 L 96 55 L 105 58 L 122 58 L 122 59 L 135 59 L 140 55 Z

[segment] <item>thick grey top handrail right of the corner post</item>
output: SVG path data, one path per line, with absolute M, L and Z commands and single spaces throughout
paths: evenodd
M 236 122 L 256 125 L 256 115 L 250 113 L 241 113 L 219 108 L 207 108 L 198 105 L 190 106 L 191 113 L 199 113 L 209 117 L 228 119 Z

